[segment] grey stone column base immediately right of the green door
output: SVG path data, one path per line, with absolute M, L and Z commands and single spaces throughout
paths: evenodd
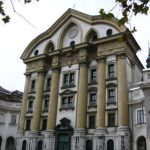
M 85 150 L 86 136 L 85 129 L 76 129 L 74 136 L 72 136 L 71 150 Z

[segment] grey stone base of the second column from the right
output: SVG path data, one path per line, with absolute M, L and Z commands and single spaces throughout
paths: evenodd
M 105 128 L 97 128 L 94 133 L 93 149 L 100 150 L 105 148 Z

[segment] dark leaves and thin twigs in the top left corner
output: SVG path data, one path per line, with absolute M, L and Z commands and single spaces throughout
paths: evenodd
M 9 0 L 9 1 L 11 2 L 12 8 L 15 12 L 15 9 L 13 6 L 13 1 L 12 0 Z M 39 1 L 39 0 L 35 0 L 35 1 Z M 32 0 L 23 0 L 23 2 L 24 2 L 24 4 L 26 4 L 26 3 L 32 2 Z M 4 23 L 8 23 L 10 21 L 10 17 L 9 17 L 9 14 L 5 13 L 4 3 L 5 3 L 5 1 L 3 2 L 2 0 L 0 0 L 0 17 Z

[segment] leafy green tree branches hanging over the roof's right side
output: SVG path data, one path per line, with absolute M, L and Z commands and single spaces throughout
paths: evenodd
M 113 19 L 115 18 L 112 11 L 116 8 L 117 5 L 121 8 L 122 17 L 118 19 L 119 25 L 124 25 L 125 23 L 130 23 L 130 19 L 133 15 L 144 14 L 147 15 L 149 11 L 148 3 L 150 0 L 115 0 L 115 6 L 109 11 L 105 12 L 104 9 L 100 9 L 100 15 L 104 19 Z M 135 27 L 132 30 L 136 31 Z

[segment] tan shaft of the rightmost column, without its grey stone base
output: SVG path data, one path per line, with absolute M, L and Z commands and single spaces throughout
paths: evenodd
M 128 126 L 128 88 L 125 55 L 117 56 L 118 126 Z

